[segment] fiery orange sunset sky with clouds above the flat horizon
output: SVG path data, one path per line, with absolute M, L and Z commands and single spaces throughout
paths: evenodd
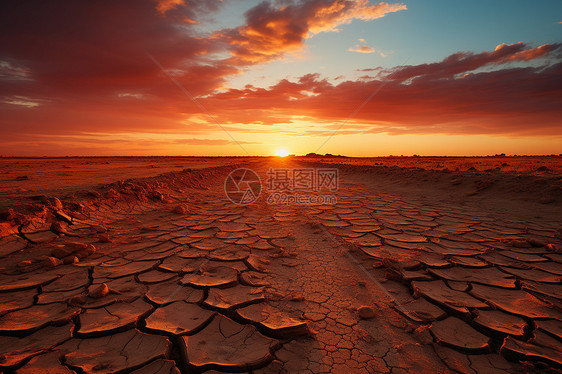
M 369 42 L 415 22 L 409 3 L 256 4 L 3 2 L 0 155 L 562 153 L 562 46 L 543 34 L 411 57 L 411 33 Z

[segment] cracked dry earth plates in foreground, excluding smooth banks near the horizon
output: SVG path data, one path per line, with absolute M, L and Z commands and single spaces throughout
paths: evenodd
M 267 166 L 251 167 L 264 176 Z M 187 212 L 100 199 L 62 233 L 2 238 L 1 370 L 562 367 L 559 223 L 383 193 L 343 174 L 338 203 L 325 206 L 240 207 L 223 183 L 175 191 Z

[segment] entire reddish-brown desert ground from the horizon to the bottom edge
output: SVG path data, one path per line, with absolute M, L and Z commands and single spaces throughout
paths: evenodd
M 272 200 L 272 169 L 337 170 L 337 188 L 298 191 L 337 202 Z M 562 157 L 0 170 L 0 371 L 562 369 Z

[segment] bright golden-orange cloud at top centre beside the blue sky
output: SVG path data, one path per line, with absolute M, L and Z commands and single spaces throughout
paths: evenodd
M 310 0 L 281 7 L 262 2 L 246 13 L 244 26 L 222 30 L 214 38 L 230 44 L 233 64 L 262 63 L 299 50 L 311 35 L 402 9 L 403 4 L 370 5 L 368 0 Z

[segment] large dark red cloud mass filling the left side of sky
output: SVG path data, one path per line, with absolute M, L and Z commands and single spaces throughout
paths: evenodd
M 148 53 L 193 95 L 212 92 L 239 70 L 210 59 L 220 47 L 185 21 L 220 0 L 164 3 L 0 3 L 0 138 L 185 129 L 185 113 L 199 109 Z

